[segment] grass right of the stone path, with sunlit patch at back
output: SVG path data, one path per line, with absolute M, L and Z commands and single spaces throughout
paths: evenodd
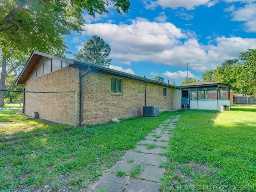
M 170 138 L 161 191 L 255 191 L 255 141 L 255 106 L 185 111 Z

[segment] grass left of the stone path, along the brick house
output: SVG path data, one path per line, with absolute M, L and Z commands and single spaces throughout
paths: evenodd
M 0 110 L 0 191 L 86 190 L 126 150 L 175 113 L 84 129 L 25 120 L 26 116 L 18 112 Z

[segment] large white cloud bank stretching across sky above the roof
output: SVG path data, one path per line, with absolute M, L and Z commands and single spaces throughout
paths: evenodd
M 184 66 L 188 62 L 191 69 L 202 72 L 238 58 L 248 48 L 256 48 L 256 38 L 235 36 L 215 36 L 209 44 L 200 44 L 194 32 L 184 31 L 170 22 L 150 22 L 143 18 L 130 20 L 130 24 L 88 24 L 85 29 L 84 36 L 98 34 L 110 45 L 111 58 L 124 64 L 153 62 Z

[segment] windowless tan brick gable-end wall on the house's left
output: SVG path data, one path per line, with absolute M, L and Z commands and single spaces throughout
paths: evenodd
M 25 91 L 56 92 L 78 91 L 79 111 L 79 71 L 63 68 L 51 74 L 26 81 Z M 38 112 L 39 118 L 63 124 L 74 125 L 74 93 L 25 93 L 25 114 L 32 116 Z M 79 116 L 79 112 L 78 112 Z M 79 123 L 79 122 L 78 122 Z

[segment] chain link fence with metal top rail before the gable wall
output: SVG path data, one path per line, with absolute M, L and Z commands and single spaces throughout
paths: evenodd
M 16 99 L 4 99 L 4 108 L 6 110 L 17 109 L 21 113 L 49 120 L 61 124 L 70 124 L 77 126 L 77 92 L 76 91 L 56 91 L 56 92 L 34 92 L 34 91 L 16 91 L 0 90 L 4 95 L 22 94 Z M 20 99 L 18 99 L 20 98 Z

